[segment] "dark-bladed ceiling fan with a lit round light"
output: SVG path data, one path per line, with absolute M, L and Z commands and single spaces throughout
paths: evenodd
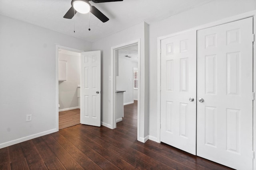
M 100 10 L 98 10 L 95 6 L 92 6 L 89 3 L 90 0 L 72 0 L 71 1 L 71 8 L 68 12 L 64 15 L 63 18 L 72 19 L 76 12 L 86 14 L 91 12 L 94 16 L 96 16 L 102 22 L 108 21 L 108 17 L 106 17 Z M 116 1 L 123 1 L 123 0 L 91 0 L 94 3 L 102 3 L 102 2 L 116 2 Z

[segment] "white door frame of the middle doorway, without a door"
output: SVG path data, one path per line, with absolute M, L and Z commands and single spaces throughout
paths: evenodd
M 140 128 L 144 128 L 140 126 L 140 81 L 141 81 L 141 76 L 140 76 L 140 39 L 134 40 L 134 41 L 130 41 L 128 43 L 123 43 L 120 45 L 116 45 L 114 47 L 111 47 L 111 76 L 109 78 L 109 80 L 111 81 L 111 87 L 110 87 L 110 117 L 111 117 L 111 121 L 110 121 L 110 128 L 114 129 L 116 128 L 116 111 L 115 111 L 115 107 L 116 107 L 116 50 L 118 49 L 122 49 L 124 47 L 128 47 L 131 45 L 138 45 L 138 125 L 137 125 L 137 131 L 140 132 Z M 139 133 L 137 134 L 138 138 L 139 138 Z

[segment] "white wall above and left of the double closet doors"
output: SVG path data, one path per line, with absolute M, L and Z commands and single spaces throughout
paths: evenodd
M 178 31 L 218 21 L 223 18 L 241 14 L 256 9 L 256 0 L 214 0 L 203 6 L 198 6 L 165 20 L 152 23 L 149 27 L 149 135 L 157 137 L 157 37 L 169 35 Z

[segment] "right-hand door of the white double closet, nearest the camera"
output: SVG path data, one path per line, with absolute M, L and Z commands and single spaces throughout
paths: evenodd
M 197 35 L 197 155 L 240 170 L 253 165 L 252 23 L 246 18 Z

